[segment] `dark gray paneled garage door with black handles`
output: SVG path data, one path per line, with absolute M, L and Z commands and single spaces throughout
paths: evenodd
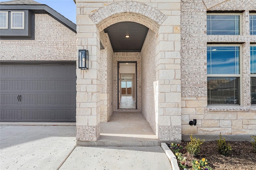
M 1 63 L 0 121 L 76 121 L 75 63 Z

